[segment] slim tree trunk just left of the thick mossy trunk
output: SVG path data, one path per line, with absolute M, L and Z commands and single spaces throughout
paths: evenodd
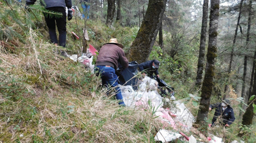
M 201 27 L 201 38 L 197 65 L 197 78 L 196 85 L 200 86 L 203 79 L 203 69 L 204 69 L 204 54 L 205 54 L 205 41 L 207 32 L 207 19 L 208 19 L 208 0 L 204 0 L 203 4 L 203 17 L 202 17 L 202 27 Z

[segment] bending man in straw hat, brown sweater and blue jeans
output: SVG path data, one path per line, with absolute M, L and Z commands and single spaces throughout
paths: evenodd
M 94 71 L 96 75 L 100 75 L 103 87 L 108 87 L 110 84 L 111 87 L 115 88 L 116 99 L 120 100 L 118 104 L 125 106 L 121 90 L 117 86 L 118 76 L 116 75 L 118 63 L 120 63 L 123 68 L 129 66 L 122 48 L 123 45 L 118 43 L 116 38 L 112 38 L 109 43 L 103 44 L 99 50 Z

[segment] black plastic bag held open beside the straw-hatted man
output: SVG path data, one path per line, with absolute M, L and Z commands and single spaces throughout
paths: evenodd
M 132 85 L 134 90 L 137 90 L 138 78 L 134 77 L 138 73 L 139 64 L 134 62 L 129 62 L 128 68 L 123 68 L 121 64 L 118 64 L 116 74 L 118 77 L 118 83 L 121 85 Z

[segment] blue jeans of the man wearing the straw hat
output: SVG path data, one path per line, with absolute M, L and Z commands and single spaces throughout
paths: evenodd
M 119 105 L 125 105 L 123 102 L 123 96 L 118 85 L 118 76 L 116 75 L 116 71 L 112 67 L 106 66 L 96 66 L 94 69 L 95 73 L 99 73 L 100 78 L 102 80 L 102 86 L 108 87 L 108 84 L 111 85 L 112 88 L 116 90 L 116 99 L 120 100 Z

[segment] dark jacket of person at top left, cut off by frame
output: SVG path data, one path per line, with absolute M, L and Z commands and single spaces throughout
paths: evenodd
M 34 5 L 36 0 L 26 0 L 27 5 Z M 71 9 L 72 7 L 72 0 L 45 0 L 45 5 L 46 8 L 51 8 L 51 7 L 63 7 L 66 8 L 68 7 Z

